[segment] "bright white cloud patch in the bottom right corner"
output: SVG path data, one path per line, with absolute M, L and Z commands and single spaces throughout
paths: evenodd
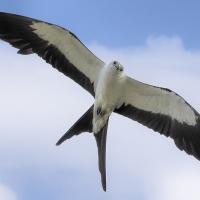
M 187 171 L 188 170 L 188 171 Z M 192 168 L 178 170 L 163 175 L 156 184 L 155 192 L 152 200 L 199 200 L 199 180 L 200 173 Z

